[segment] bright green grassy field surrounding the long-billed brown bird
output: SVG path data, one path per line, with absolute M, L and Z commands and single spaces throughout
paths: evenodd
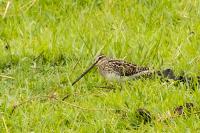
M 155 78 L 101 88 L 109 83 L 96 69 L 71 86 L 100 50 L 200 75 L 198 0 L 2 0 L 0 14 L 1 132 L 200 131 L 195 113 L 158 120 L 186 102 L 200 108 L 198 86 Z

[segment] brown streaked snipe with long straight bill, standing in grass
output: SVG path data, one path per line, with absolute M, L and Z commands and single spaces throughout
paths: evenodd
M 85 70 L 73 83 L 78 82 L 85 74 L 87 74 L 93 67 L 97 67 L 100 74 L 110 81 L 121 81 L 128 79 L 135 79 L 138 77 L 150 76 L 154 73 L 148 67 L 139 66 L 125 60 L 113 59 L 100 54 L 96 57 L 95 62 Z

